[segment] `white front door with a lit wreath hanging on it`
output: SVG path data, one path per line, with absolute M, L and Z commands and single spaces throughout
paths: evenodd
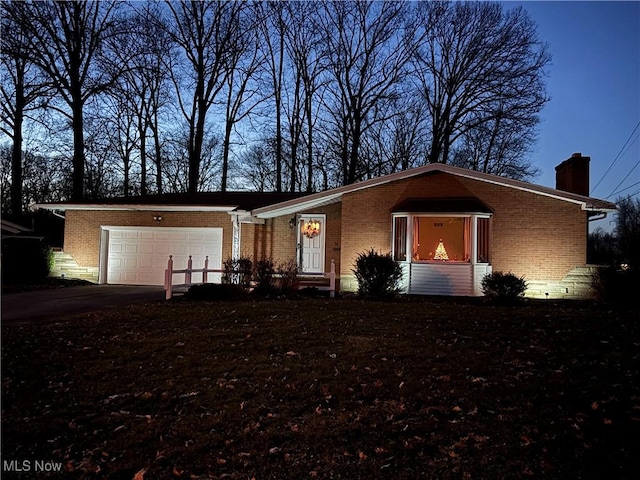
M 325 215 L 300 215 L 298 268 L 304 273 L 324 273 Z

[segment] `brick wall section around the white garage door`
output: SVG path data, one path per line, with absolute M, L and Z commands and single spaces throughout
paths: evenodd
M 162 215 L 162 222 L 153 220 Z M 64 251 L 83 267 L 97 267 L 100 259 L 100 226 L 126 227 L 222 227 L 222 258 L 231 256 L 231 217 L 226 212 L 130 212 L 67 210 Z

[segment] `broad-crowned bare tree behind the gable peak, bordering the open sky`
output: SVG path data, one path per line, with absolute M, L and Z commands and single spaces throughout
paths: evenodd
M 499 3 L 424 2 L 417 15 L 414 66 L 430 113 L 429 162 L 447 163 L 456 141 L 489 122 L 497 122 L 498 133 L 503 119 L 535 119 L 547 101 L 550 56 L 523 8 L 504 13 Z

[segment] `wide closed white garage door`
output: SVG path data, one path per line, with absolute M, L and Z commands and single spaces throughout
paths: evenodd
M 222 265 L 222 228 L 152 228 L 103 227 L 108 232 L 106 261 L 107 283 L 122 285 L 163 285 L 169 255 L 173 255 L 174 270 L 187 268 L 191 255 L 193 268 L 203 268 L 209 256 L 209 268 Z M 104 238 L 104 237 L 103 237 Z M 218 275 L 209 274 L 208 281 Z M 202 274 L 193 274 L 200 282 Z M 175 283 L 184 277 L 174 275 Z

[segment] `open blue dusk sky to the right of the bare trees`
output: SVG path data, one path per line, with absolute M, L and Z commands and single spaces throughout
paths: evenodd
M 505 2 L 517 5 L 553 55 L 534 183 L 554 187 L 554 167 L 581 152 L 591 157 L 591 196 L 640 197 L 640 2 Z

